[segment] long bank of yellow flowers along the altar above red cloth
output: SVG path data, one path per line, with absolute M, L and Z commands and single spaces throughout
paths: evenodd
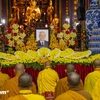
M 51 61 L 52 64 L 91 64 L 95 59 L 100 59 L 100 54 L 91 55 L 91 51 L 75 52 L 71 48 L 61 51 L 58 48 L 50 50 L 48 48 L 40 48 L 37 51 L 28 50 L 16 51 L 13 54 L 0 52 L 0 62 L 3 67 L 10 67 L 17 63 L 24 63 L 26 67 L 43 68 L 42 65 L 46 61 Z

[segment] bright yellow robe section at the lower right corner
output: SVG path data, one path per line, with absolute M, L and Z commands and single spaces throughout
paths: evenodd
M 91 95 L 93 100 L 100 100 L 100 79 L 96 82 Z

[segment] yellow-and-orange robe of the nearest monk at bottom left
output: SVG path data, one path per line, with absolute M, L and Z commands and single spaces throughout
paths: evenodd
M 20 90 L 20 94 L 10 97 L 8 100 L 45 100 L 41 95 L 32 94 L 31 90 Z

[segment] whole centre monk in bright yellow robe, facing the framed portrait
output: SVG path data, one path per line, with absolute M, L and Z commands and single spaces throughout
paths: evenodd
M 38 93 L 47 98 L 54 98 L 55 87 L 59 80 L 58 74 L 51 68 L 50 62 L 46 62 L 45 69 L 40 71 L 37 78 Z M 50 96 L 50 97 L 49 97 Z

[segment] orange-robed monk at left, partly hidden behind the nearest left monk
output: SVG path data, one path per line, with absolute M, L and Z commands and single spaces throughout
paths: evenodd
M 3 86 L 2 90 L 9 92 L 7 92 L 5 95 L 2 95 L 2 100 L 7 100 L 9 97 L 19 94 L 18 78 L 24 71 L 25 69 L 23 64 L 17 64 L 15 66 L 16 76 L 8 80 Z M 32 84 L 32 92 L 36 93 L 36 86 L 34 83 Z

